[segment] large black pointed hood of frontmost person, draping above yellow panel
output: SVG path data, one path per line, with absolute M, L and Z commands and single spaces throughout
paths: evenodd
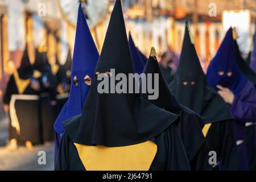
M 120 0 L 115 2 L 95 72 L 110 69 L 126 76 L 134 73 Z M 106 80 L 114 78 L 114 73 L 106 74 Z M 139 93 L 100 94 L 99 84 L 101 81 L 94 78 L 76 130 L 78 122 L 64 122 L 67 135 L 75 143 L 108 147 L 142 143 L 162 133 L 178 118 L 142 100 Z

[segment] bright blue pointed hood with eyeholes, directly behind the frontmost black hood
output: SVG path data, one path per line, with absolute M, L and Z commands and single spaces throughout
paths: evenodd
M 67 64 L 71 63 L 69 54 Z M 64 133 L 62 123 L 82 113 L 82 107 L 90 88 L 90 80 L 94 76 L 94 69 L 98 60 L 98 51 L 93 41 L 88 24 L 84 18 L 81 4 L 77 18 L 75 47 L 71 68 L 71 90 L 69 99 L 60 111 L 54 124 L 55 131 L 60 135 Z M 68 67 L 68 66 L 67 66 Z M 87 76 L 87 77 L 86 77 Z M 86 81 L 86 79 L 88 79 Z

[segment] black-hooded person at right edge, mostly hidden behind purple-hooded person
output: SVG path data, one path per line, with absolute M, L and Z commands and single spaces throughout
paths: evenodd
M 242 71 L 242 73 L 246 76 L 246 78 L 251 81 L 254 86 L 256 86 L 256 73 L 250 68 L 248 64 L 243 60 L 240 49 L 237 44 L 237 35 L 236 30 L 233 29 L 233 38 L 234 38 L 234 49 L 236 52 L 236 59 L 237 65 Z M 255 129 L 256 125 L 253 125 L 253 122 L 249 122 L 246 124 L 246 136 L 245 136 L 245 145 L 247 150 L 247 157 L 249 161 L 249 168 L 252 171 L 256 170 L 256 159 L 255 159 L 255 148 L 256 148 L 256 141 L 255 141 Z M 254 144 L 253 144 L 254 143 Z

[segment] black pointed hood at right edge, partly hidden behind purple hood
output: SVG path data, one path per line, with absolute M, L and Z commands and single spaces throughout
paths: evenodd
M 254 71 L 249 67 L 249 65 L 246 64 L 245 60 L 243 60 L 236 39 L 234 39 L 234 51 L 236 53 L 238 68 L 242 71 L 242 73 L 250 82 L 256 85 L 256 73 L 254 73 Z

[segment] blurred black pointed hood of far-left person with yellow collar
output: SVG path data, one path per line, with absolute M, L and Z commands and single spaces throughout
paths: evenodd
M 27 45 L 23 52 L 22 60 L 18 68 L 19 77 L 23 80 L 30 78 L 33 75 L 34 69 L 30 63 L 30 57 L 28 56 Z

